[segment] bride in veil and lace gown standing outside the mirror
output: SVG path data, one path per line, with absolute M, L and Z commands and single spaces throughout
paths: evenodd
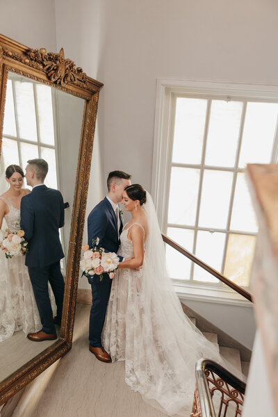
M 188 417 L 195 363 L 202 357 L 224 363 L 218 347 L 183 313 L 167 277 L 152 197 L 133 184 L 125 188 L 122 203 L 132 218 L 120 236 L 118 254 L 126 260 L 113 279 L 103 346 L 113 361 L 125 361 L 126 383 L 144 400 L 170 416 Z

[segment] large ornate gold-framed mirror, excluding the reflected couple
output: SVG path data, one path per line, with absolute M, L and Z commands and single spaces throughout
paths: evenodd
M 58 339 L 32 343 L 21 329 L 0 338 L 0 405 L 62 357 L 72 345 L 101 86 L 81 68 L 76 68 L 72 60 L 66 59 L 63 49 L 59 54 L 47 53 L 45 49 L 30 49 L 0 35 L 0 194 L 7 189 L 5 170 L 8 165 L 25 168 L 28 159 L 44 158 L 49 163 L 46 185 L 58 188 L 65 202 L 65 226 L 60 229 L 65 253 L 61 261 L 65 296 Z M 6 291 L 5 283 L 1 291 Z M 0 304 L 3 298 L 0 297 Z

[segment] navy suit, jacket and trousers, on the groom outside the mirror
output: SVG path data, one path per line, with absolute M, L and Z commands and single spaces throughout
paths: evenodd
M 105 252 L 115 252 L 120 247 L 120 234 L 122 233 L 122 219 L 120 218 L 120 231 L 117 229 L 117 218 L 111 203 L 105 197 L 88 217 L 88 245 L 92 247 L 92 239 L 99 238 L 98 247 L 103 247 Z M 122 257 L 119 256 L 120 261 Z M 112 279 L 104 274 L 102 281 L 99 275 L 88 277 L 92 286 L 92 308 L 90 311 L 90 345 L 101 347 L 101 332 L 104 327 L 107 303 L 111 291 Z

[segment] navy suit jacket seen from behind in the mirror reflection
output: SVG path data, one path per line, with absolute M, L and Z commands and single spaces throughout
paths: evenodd
M 25 264 L 44 268 L 64 257 L 59 228 L 64 224 L 64 202 L 58 190 L 44 184 L 22 197 L 20 227 L 28 242 Z

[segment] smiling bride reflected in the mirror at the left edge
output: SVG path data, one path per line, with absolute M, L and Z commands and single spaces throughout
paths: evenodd
M 24 172 L 19 165 L 8 166 L 6 181 L 10 188 L 0 197 L 0 227 L 4 219 L 11 232 L 20 229 L 20 202 L 24 195 L 30 193 L 22 188 L 23 179 Z M 22 329 L 27 335 L 38 332 L 42 327 L 24 262 L 24 256 L 6 259 L 5 253 L 0 250 L 0 342 L 13 336 L 17 330 Z

